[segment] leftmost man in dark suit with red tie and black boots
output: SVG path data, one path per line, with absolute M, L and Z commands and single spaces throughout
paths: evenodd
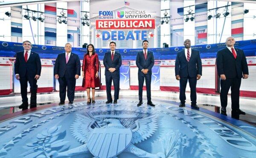
M 20 93 L 22 104 L 20 109 L 28 109 L 27 87 L 30 85 L 30 108 L 36 107 L 37 80 L 41 75 L 41 60 L 37 53 L 31 51 L 32 44 L 23 42 L 24 51 L 17 52 L 14 65 L 15 77 L 20 80 Z

